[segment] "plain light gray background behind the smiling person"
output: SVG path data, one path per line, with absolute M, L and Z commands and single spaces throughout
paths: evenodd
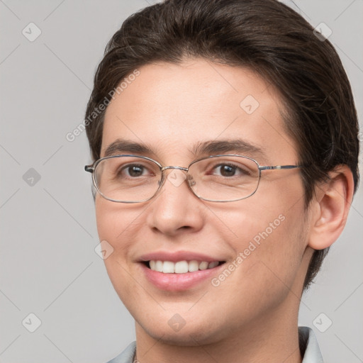
M 82 123 L 106 42 L 148 4 L 0 0 L 0 362 L 106 362 L 134 340 L 133 319 L 94 252 L 86 133 L 72 143 L 65 135 Z M 333 30 L 362 119 L 363 1 L 286 4 Z M 30 22 L 42 32 L 33 42 L 22 34 Z M 33 186 L 23 180 L 30 168 L 40 174 Z M 314 329 L 329 363 L 363 362 L 362 225 L 360 188 L 347 228 L 301 303 L 299 324 Z M 22 325 L 29 313 L 42 322 L 34 333 Z M 320 313 L 320 325 L 333 321 L 325 333 L 313 324 Z

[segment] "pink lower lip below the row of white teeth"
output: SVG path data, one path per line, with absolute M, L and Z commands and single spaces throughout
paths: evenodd
M 211 279 L 216 272 L 223 267 L 220 264 L 213 269 L 203 269 L 195 272 L 186 272 L 185 274 L 164 274 L 163 272 L 153 271 L 152 269 L 141 263 L 141 268 L 146 276 L 146 278 L 154 284 L 158 289 L 167 291 L 182 291 L 191 289 L 191 287 L 205 281 L 206 279 Z

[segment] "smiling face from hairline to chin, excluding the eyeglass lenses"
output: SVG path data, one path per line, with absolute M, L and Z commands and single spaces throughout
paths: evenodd
M 163 166 L 188 167 L 218 154 L 247 155 L 260 165 L 297 164 L 279 94 L 254 72 L 199 59 L 139 71 L 106 110 L 101 157 L 119 139 L 147 145 L 150 152 L 113 154 L 152 157 Z M 254 148 L 200 154 L 196 147 L 236 139 Z M 186 181 L 168 179 L 173 172 L 165 172 L 150 201 L 114 203 L 96 196 L 99 238 L 113 247 L 106 269 L 137 334 L 194 345 L 294 320 L 311 256 L 299 170 L 262 171 L 255 194 L 227 203 L 199 199 Z M 199 271 L 157 272 L 150 260 L 196 260 L 188 266 Z M 203 269 L 207 262 L 211 268 Z M 151 262 L 154 269 L 157 263 Z

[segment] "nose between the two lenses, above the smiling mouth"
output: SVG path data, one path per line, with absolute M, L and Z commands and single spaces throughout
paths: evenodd
M 164 182 L 147 208 L 147 225 L 164 235 L 175 236 L 201 230 L 205 223 L 205 206 L 189 189 L 184 169 L 168 169 Z

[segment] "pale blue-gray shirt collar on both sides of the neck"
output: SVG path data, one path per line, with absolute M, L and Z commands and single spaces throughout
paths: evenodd
M 299 326 L 298 338 L 299 344 L 301 345 L 300 350 L 304 352 L 302 363 L 323 363 L 318 340 L 316 340 L 313 330 L 306 326 Z M 133 363 L 135 352 L 136 342 L 132 342 L 121 354 L 107 363 Z

